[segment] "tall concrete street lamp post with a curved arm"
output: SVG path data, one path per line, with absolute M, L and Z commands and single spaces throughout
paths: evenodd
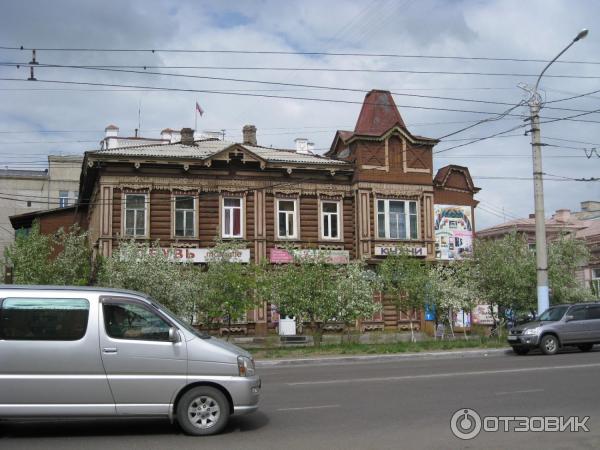
M 542 179 L 542 152 L 540 138 L 540 109 L 542 102 L 538 93 L 538 85 L 542 76 L 548 68 L 561 57 L 575 42 L 583 39 L 588 34 L 585 28 L 567 45 L 558 55 L 550 61 L 538 77 L 531 97 L 529 99 L 529 111 L 531 119 L 531 151 L 533 155 L 533 195 L 535 200 L 535 252 L 537 261 L 537 301 L 538 315 L 548 309 L 550 305 L 548 297 L 548 248 L 546 247 L 546 219 L 544 217 L 544 182 Z

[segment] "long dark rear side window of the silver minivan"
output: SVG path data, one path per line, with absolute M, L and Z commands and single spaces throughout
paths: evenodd
M 78 298 L 5 298 L 0 339 L 77 341 L 85 336 L 90 303 Z

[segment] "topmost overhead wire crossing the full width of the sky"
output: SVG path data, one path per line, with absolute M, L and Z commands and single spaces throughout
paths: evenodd
M 25 47 L 0 46 L 0 50 L 38 50 L 47 52 L 86 52 L 86 53 L 223 53 L 242 55 L 305 55 L 305 56 L 352 56 L 403 59 L 441 59 L 463 61 L 511 61 L 548 63 L 550 60 L 515 57 L 491 56 L 447 56 L 447 55 L 417 55 L 400 53 L 359 53 L 359 52 L 318 52 L 318 51 L 283 51 L 283 50 L 242 50 L 242 49 L 173 49 L 173 48 L 86 48 L 86 47 Z M 558 64 L 592 64 L 600 65 L 600 61 L 557 61 Z

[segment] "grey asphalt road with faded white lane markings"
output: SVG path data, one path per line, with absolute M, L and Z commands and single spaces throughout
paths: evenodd
M 600 448 L 600 346 L 551 357 L 418 357 L 263 367 L 259 412 L 219 436 L 164 420 L 3 422 L 0 449 Z M 589 432 L 481 432 L 459 440 L 450 418 L 590 416 Z M 539 422 L 538 422 L 539 423 Z

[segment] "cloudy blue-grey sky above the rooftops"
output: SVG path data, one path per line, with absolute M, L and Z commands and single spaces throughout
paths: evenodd
M 533 211 L 528 108 L 517 106 L 529 94 L 519 85 L 534 85 L 543 61 L 586 27 L 540 83 L 546 214 L 578 210 L 600 200 L 600 183 L 569 180 L 600 176 L 600 114 L 585 114 L 600 108 L 598 17 L 594 0 L 5 2 L 2 47 L 200 51 L 38 50 L 40 64 L 113 67 L 38 67 L 39 81 L 26 81 L 29 69 L 11 63 L 29 62 L 31 51 L 0 49 L 0 167 L 42 169 L 47 154 L 83 153 L 110 123 L 132 135 L 138 109 L 145 137 L 193 127 L 196 101 L 199 130 L 239 140 L 254 124 L 261 145 L 306 137 L 325 151 L 335 130 L 354 128 L 364 93 L 387 89 L 414 134 L 439 138 L 498 119 L 443 139 L 434 155 L 436 168 L 471 170 L 482 228 Z

